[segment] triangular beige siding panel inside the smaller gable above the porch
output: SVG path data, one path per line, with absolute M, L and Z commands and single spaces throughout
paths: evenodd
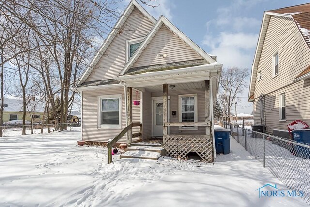
M 166 54 L 167 57 L 160 57 L 158 54 Z M 198 59 L 202 57 L 163 25 L 132 67 Z

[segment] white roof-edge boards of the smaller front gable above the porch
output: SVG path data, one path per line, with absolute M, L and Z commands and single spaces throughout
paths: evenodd
M 189 39 L 183 32 L 181 32 L 178 28 L 176 28 L 168 19 L 164 16 L 160 16 L 152 30 L 145 37 L 137 51 L 130 58 L 130 60 L 125 64 L 124 68 L 121 70 L 119 76 L 124 75 L 126 71 L 128 71 L 138 60 L 142 52 L 149 45 L 152 39 L 155 37 L 156 33 L 160 30 L 161 26 L 165 25 L 168 29 L 170 29 L 173 33 L 175 33 L 181 40 L 183 40 L 190 48 L 192 48 L 195 52 L 197 52 L 203 59 L 207 60 L 209 63 L 216 62 L 211 56 L 202 50 L 198 45 L 196 45 L 191 39 Z

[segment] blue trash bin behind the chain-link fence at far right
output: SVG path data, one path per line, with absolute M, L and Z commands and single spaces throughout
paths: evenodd
M 292 131 L 293 139 L 296 142 L 310 144 L 310 129 L 299 129 Z M 310 159 L 310 149 L 295 145 L 295 154 L 297 157 Z

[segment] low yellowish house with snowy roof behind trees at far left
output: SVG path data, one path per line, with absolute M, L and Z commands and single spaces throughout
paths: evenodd
M 4 103 L 8 106 L 3 110 L 3 123 L 23 119 L 23 100 L 20 98 L 4 98 Z M 27 110 L 27 108 L 26 108 Z M 44 108 L 37 104 L 34 111 L 26 112 L 26 121 L 31 122 L 31 116 L 34 122 L 42 121 Z

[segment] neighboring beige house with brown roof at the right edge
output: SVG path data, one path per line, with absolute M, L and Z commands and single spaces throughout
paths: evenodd
M 264 13 L 248 100 L 268 133 L 310 125 L 310 3 Z

